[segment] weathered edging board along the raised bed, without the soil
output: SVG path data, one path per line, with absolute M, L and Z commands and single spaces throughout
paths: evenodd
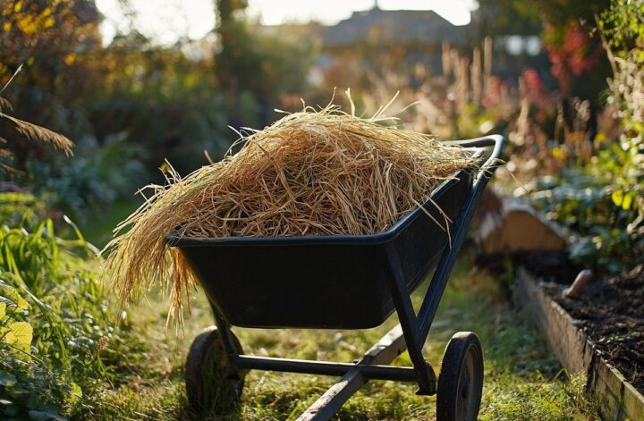
M 586 333 L 577 327 L 578 322 L 548 297 L 522 267 L 517 271 L 513 301 L 534 318 L 562 365 L 571 373 L 588 376 L 588 392 L 597 399 L 603 419 L 644 420 L 644 396 L 606 363 Z

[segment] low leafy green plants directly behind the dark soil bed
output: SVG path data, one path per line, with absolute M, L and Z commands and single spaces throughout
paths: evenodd
M 571 258 L 599 273 L 627 270 L 642 262 L 644 254 L 644 184 L 623 184 L 615 173 L 621 167 L 614 156 L 625 154 L 615 145 L 588 168 L 541 178 L 531 195 L 549 219 L 579 234 L 570 245 Z

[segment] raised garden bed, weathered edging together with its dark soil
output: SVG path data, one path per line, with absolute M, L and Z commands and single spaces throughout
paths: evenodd
M 643 276 L 644 269 L 639 268 L 590 284 L 571 299 L 563 298 L 563 285 L 538 283 L 522 268 L 518 272 L 515 302 L 534 316 L 563 366 L 588 375 L 588 391 L 604 419 L 644 419 Z

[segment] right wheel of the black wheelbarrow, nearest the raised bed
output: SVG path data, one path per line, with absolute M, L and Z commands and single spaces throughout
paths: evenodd
M 447 344 L 436 392 L 438 421 L 476 421 L 483 392 L 483 349 L 472 332 L 459 332 Z

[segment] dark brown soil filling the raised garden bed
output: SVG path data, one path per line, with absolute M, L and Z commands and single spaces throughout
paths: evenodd
M 547 287 L 548 294 L 580 320 L 604 358 L 644 393 L 644 265 L 591 282 L 576 298 L 564 298 L 562 290 Z

